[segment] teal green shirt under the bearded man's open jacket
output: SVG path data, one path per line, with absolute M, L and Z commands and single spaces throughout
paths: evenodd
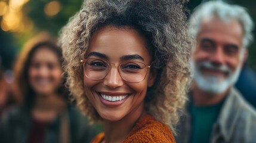
M 212 126 L 217 122 L 223 101 L 211 106 L 195 107 L 190 105 L 192 117 L 192 130 L 190 143 L 209 142 Z

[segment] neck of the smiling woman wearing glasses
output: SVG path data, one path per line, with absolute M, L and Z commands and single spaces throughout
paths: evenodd
M 132 128 L 134 128 L 135 123 L 140 119 L 141 116 L 146 114 L 146 111 L 144 111 L 144 106 L 142 107 L 143 108 L 140 106 L 140 109 L 136 111 L 136 113 L 129 113 L 118 122 L 104 120 L 104 143 L 124 142 Z

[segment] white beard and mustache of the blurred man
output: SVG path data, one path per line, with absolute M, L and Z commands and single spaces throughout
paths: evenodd
M 218 67 L 214 66 L 209 61 L 202 61 L 201 63 L 195 63 L 192 60 L 191 66 L 192 66 L 192 72 L 194 74 L 193 75 L 194 79 L 200 89 L 210 94 L 221 94 L 225 92 L 230 86 L 233 86 L 236 80 L 238 80 L 240 70 L 242 69 L 241 63 L 242 62 L 239 63 L 235 71 L 232 71 L 226 65 L 221 65 Z M 200 67 L 204 67 L 207 69 L 220 70 L 220 71 L 227 72 L 228 74 L 226 78 L 220 77 L 220 76 L 214 76 L 211 74 L 203 75 L 201 73 Z

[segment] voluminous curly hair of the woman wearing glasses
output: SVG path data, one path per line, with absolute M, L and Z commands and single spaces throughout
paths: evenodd
M 147 39 L 152 68 L 158 69 L 156 82 L 147 89 L 145 110 L 175 133 L 190 81 L 191 39 L 183 4 L 181 0 L 88 0 L 63 27 L 60 45 L 69 75 L 67 83 L 78 106 L 93 121 L 101 117 L 85 95 L 80 60 L 97 29 L 106 25 L 129 27 Z

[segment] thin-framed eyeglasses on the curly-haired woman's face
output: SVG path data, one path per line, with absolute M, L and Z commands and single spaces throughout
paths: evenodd
M 145 79 L 150 66 L 138 61 L 124 61 L 122 63 L 107 63 L 107 61 L 97 58 L 81 60 L 84 66 L 84 74 L 89 79 L 101 80 L 109 73 L 110 65 L 118 67 L 118 72 L 123 80 L 138 83 Z

